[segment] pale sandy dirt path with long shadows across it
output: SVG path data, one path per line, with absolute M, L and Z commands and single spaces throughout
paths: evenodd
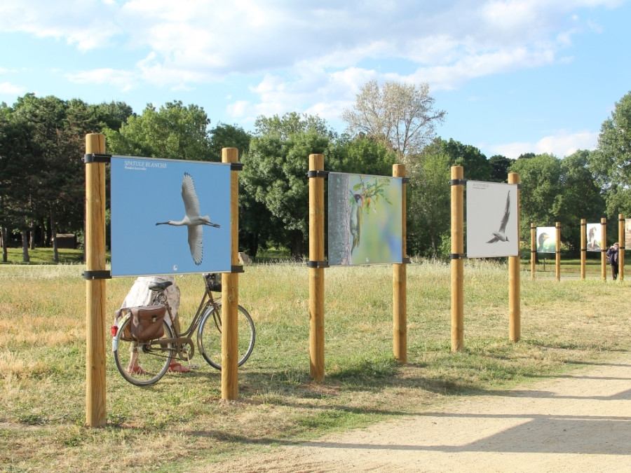
M 631 353 L 217 471 L 631 472 Z

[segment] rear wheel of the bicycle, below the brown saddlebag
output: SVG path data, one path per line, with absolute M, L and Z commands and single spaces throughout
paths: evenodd
M 126 320 L 114 336 L 113 352 L 116 368 L 125 380 L 133 385 L 147 386 L 156 383 L 169 369 L 172 358 L 172 343 L 159 343 L 154 340 L 142 343 L 129 337 L 131 319 Z M 164 335 L 172 338 L 173 332 L 166 322 L 162 322 Z M 127 336 L 125 336 L 125 333 Z

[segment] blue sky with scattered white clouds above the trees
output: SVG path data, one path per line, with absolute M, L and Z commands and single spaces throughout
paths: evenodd
M 631 0 L 0 0 L 0 102 L 181 100 L 252 130 L 427 82 L 442 138 L 487 156 L 594 149 L 631 90 Z

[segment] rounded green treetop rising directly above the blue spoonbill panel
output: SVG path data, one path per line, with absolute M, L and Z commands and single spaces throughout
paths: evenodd
M 149 104 L 132 115 L 120 130 L 106 128 L 111 153 L 150 158 L 217 160 L 210 149 L 210 119 L 197 105 L 168 102 L 156 110 Z

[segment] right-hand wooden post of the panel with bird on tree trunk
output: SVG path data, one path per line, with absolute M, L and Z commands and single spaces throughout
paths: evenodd
M 405 177 L 405 165 L 395 164 L 392 167 L 393 177 Z M 407 224 L 406 224 L 406 185 L 401 186 L 402 193 L 402 256 L 407 259 Z M 393 352 L 394 357 L 402 364 L 407 363 L 407 268 L 406 263 L 392 266 L 393 289 Z

